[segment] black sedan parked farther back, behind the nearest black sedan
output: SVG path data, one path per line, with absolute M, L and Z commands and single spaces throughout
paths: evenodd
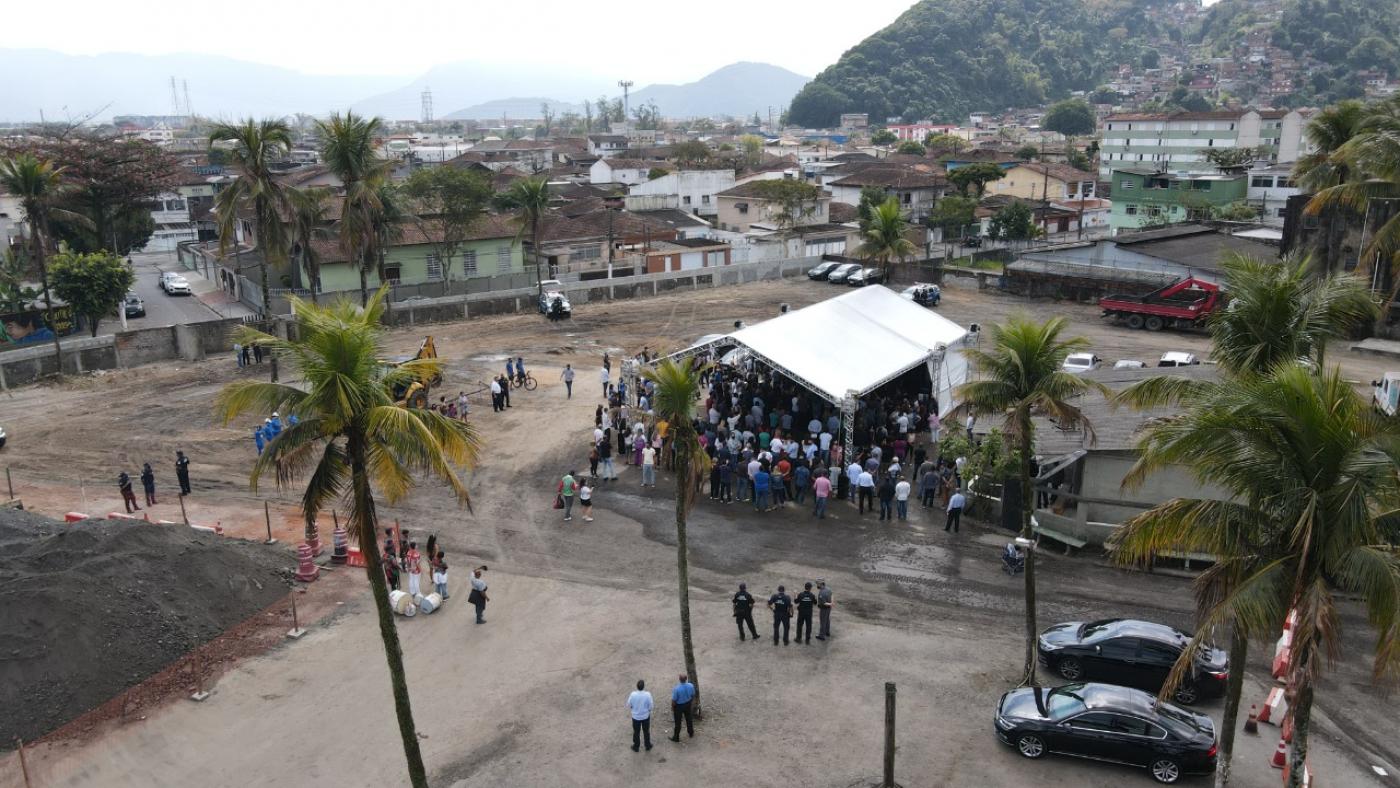
M 1133 619 L 1070 621 L 1040 633 L 1040 663 L 1071 682 L 1099 680 L 1159 691 L 1191 635 Z M 1225 694 L 1229 655 L 1203 645 L 1191 675 L 1176 689 L 1176 703 L 1193 704 Z

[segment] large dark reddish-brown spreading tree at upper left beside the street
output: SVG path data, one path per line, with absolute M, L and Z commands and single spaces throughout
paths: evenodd
M 129 255 L 155 231 L 151 200 L 175 189 L 175 157 L 146 140 L 97 133 L 42 136 L 14 146 L 63 168 L 64 209 L 87 221 L 56 217 L 50 231 L 78 252 Z

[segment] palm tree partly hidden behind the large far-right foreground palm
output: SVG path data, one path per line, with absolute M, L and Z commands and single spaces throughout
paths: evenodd
M 1134 407 L 1176 406 L 1193 409 L 1219 395 L 1222 388 L 1235 381 L 1268 375 L 1280 364 L 1305 361 L 1313 368 L 1322 368 L 1327 342 L 1343 337 L 1347 332 L 1379 312 L 1375 298 L 1365 283 L 1350 274 L 1308 274 L 1306 258 L 1285 258 L 1270 263 L 1242 255 L 1228 255 L 1221 267 L 1225 270 L 1225 287 L 1231 293 L 1228 309 L 1211 315 L 1211 356 L 1219 364 L 1224 381 L 1201 381 L 1190 378 L 1159 377 L 1138 382 L 1116 397 Z M 1144 465 L 1142 470 L 1130 477 L 1128 484 L 1140 481 L 1155 465 Z M 1193 528 L 1215 528 L 1218 522 L 1203 521 Z M 1233 528 L 1257 525 L 1261 521 L 1236 519 Z M 1144 525 L 1151 530 L 1155 526 Z M 1163 528 L 1176 528 L 1169 525 Z M 1166 539 L 1168 535 L 1149 535 L 1145 539 Z M 1240 561 L 1256 560 L 1253 546 L 1263 542 L 1260 533 L 1249 533 L 1235 539 L 1226 553 L 1239 554 Z M 1189 546 L 1175 547 L 1190 550 Z M 1200 551 L 1200 550 L 1194 550 Z M 1243 554 L 1240 554 L 1243 553 Z M 1116 553 L 1121 561 L 1137 560 L 1131 553 Z M 1203 578 L 1196 592 L 1197 609 L 1204 612 L 1218 603 L 1218 589 Z M 1232 620 L 1232 619 L 1231 619 Z M 1232 620 L 1233 623 L 1233 620 Z M 1246 624 L 1232 626 L 1229 659 L 1242 666 L 1249 659 L 1249 630 Z M 1176 687 L 1190 665 L 1189 658 L 1180 662 L 1183 673 L 1173 676 L 1165 694 Z M 1231 673 L 1225 693 L 1225 714 L 1221 722 L 1219 768 L 1215 773 L 1217 785 L 1226 785 L 1231 775 L 1231 757 L 1235 752 L 1235 729 L 1239 718 L 1239 698 L 1243 690 L 1245 673 L 1236 669 Z

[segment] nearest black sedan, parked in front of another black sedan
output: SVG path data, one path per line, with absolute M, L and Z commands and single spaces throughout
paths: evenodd
M 997 704 L 997 738 L 1028 759 L 1057 753 L 1147 768 L 1158 782 L 1215 771 L 1215 725 L 1142 690 L 1021 687 Z

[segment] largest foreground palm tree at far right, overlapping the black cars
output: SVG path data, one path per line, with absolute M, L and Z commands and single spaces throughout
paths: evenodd
M 1229 621 L 1236 638 L 1267 638 L 1288 610 L 1298 613 L 1289 785 L 1302 780 L 1323 658 L 1341 649 L 1338 592 L 1361 598 L 1380 635 L 1376 677 L 1400 676 L 1400 557 L 1385 546 L 1400 502 L 1397 445 L 1400 424 L 1371 413 L 1338 370 L 1319 375 L 1285 361 L 1215 386 L 1180 417 L 1152 424 L 1130 473 L 1133 480 L 1182 465 L 1229 495 L 1168 501 L 1113 536 L 1121 561 L 1144 563 L 1162 550 L 1217 557 L 1196 584 L 1201 630 L 1169 686 L 1190 670 L 1212 627 Z M 1242 673 L 1245 665 L 1232 668 Z M 1228 780 L 1228 760 L 1222 768 Z

